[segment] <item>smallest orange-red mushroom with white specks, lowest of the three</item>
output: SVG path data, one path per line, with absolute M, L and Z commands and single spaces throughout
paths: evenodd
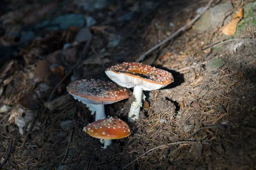
M 124 121 L 113 117 L 89 123 L 83 130 L 94 138 L 103 139 L 104 149 L 112 143 L 112 139 L 125 138 L 131 134 L 129 126 Z

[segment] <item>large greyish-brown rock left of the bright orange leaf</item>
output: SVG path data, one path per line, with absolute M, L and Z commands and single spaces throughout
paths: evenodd
M 232 9 L 231 1 L 209 8 L 195 23 L 195 30 L 207 31 L 215 28 L 224 19 L 225 14 Z

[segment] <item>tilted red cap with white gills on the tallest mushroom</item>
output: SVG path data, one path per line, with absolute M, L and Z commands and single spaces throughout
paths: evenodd
M 173 82 L 168 71 L 134 62 L 113 65 L 105 73 L 117 84 L 131 88 L 139 85 L 143 90 L 157 90 Z

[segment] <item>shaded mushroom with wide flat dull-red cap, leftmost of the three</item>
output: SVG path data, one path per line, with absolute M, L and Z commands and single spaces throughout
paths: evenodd
M 67 91 L 77 100 L 83 102 L 95 113 L 95 120 L 105 119 L 104 105 L 119 102 L 131 96 L 130 91 L 113 82 L 81 79 L 70 83 Z

